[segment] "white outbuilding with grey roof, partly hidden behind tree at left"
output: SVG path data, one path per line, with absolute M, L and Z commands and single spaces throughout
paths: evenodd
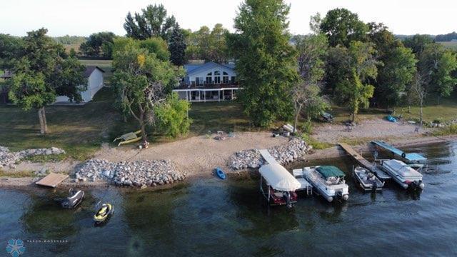
M 82 103 L 86 104 L 91 101 L 96 92 L 98 92 L 103 87 L 103 74 L 104 70 L 100 69 L 98 66 L 86 66 L 86 71 L 84 71 L 84 76 L 87 78 L 87 89 L 86 91 L 81 92 Z M 69 98 L 66 96 L 57 96 L 56 102 L 54 104 L 69 104 Z

